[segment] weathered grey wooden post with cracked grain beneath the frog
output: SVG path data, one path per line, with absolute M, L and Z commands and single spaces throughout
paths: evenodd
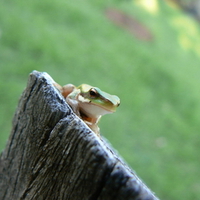
M 0 157 L 0 200 L 155 200 L 69 108 L 46 73 L 30 74 Z

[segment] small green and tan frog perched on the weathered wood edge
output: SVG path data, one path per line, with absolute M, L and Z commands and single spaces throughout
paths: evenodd
M 73 84 L 56 84 L 74 113 L 100 137 L 99 120 L 105 114 L 113 113 L 120 105 L 120 99 L 88 84 L 76 87 Z

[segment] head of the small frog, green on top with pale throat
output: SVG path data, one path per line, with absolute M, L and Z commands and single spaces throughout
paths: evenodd
M 78 97 L 80 108 L 89 117 L 113 113 L 120 104 L 117 96 L 103 92 L 97 87 L 82 84 L 77 89 L 80 90 Z

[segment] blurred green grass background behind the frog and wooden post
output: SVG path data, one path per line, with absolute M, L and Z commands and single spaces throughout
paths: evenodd
M 116 8 L 152 34 L 115 25 Z M 88 83 L 121 99 L 101 133 L 160 199 L 200 191 L 200 28 L 158 0 L 0 2 L 0 150 L 32 70 L 61 85 Z

